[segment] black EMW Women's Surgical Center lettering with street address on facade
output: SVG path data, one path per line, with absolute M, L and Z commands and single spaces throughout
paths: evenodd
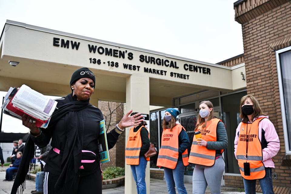
M 65 40 L 62 38 L 53 38 L 53 46 L 62 47 L 65 49 L 75 49 L 78 50 L 81 45 L 80 42 Z M 95 64 L 95 65 L 103 65 L 113 68 L 118 71 L 118 69 L 125 69 L 136 72 L 143 72 L 147 74 L 155 74 L 159 76 L 167 76 L 179 79 L 189 80 L 190 76 L 193 76 L 193 73 L 211 75 L 211 69 L 207 67 L 202 67 L 199 65 L 193 65 L 187 63 L 181 63 L 175 60 L 171 60 L 170 58 L 164 57 L 155 57 L 149 54 L 137 54 L 129 51 L 127 49 L 122 49 L 118 47 L 116 49 L 112 49 L 109 47 L 102 45 L 93 45 L 88 44 L 88 52 L 92 54 L 87 59 L 87 63 Z M 104 60 L 103 56 L 112 57 L 110 60 Z M 127 59 L 127 62 L 118 62 L 116 59 Z M 134 59 L 138 59 L 138 63 L 132 62 Z M 142 67 L 142 64 L 143 67 Z M 161 69 L 161 67 L 165 67 Z M 180 73 L 177 70 L 182 69 L 184 73 Z M 194 74 L 195 75 L 195 74 Z

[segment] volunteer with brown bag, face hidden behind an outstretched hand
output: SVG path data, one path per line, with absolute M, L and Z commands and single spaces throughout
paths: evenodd
M 137 112 L 131 113 L 131 116 L 135 114 Z M 146 194 L 146 164 L 149 158 L 145 158 L 144 154 L 149 150 L 150 144 L 146 125 L 147 123 L 143 121 L 129 130 L 125 148 L 126 164 L 131 167 L 137 194 Z

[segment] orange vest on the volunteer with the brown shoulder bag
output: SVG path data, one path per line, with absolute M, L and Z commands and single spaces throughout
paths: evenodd
M 139 165 L 139 152 L 142 147 L 142 138 L 140 137 L 141 126 L 137 132 L 133 132 L 134 127 L 129 130 L 128 140 L 125 148 L 126 164 Z M 146 158 L 149 161 L 149 158 Z

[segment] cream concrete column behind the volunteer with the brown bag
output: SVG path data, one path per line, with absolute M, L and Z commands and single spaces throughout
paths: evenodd
M 126 79 L 126 112 L 149 114 L 149 77 L 131 75 Z M 125 146 L 128 139 L 129 127 L 125 130 Z M 149 162 L 146 166 L 146 193 L 149 194 Z M 130 165 L 125 163 L 125 193 L 136 194 L 136 185 L 132 176 Z

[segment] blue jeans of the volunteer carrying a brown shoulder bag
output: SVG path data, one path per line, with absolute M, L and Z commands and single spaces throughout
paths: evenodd
M 139 156 L 139 165 L 130 165 L 135 180 L 137 194 L 146 194 L 146 164 L 147 160 Z

